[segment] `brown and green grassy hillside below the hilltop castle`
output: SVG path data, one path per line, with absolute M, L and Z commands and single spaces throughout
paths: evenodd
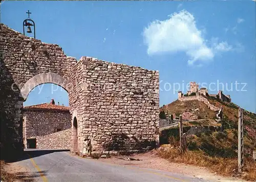
M 224 131 L 209 131 L 187 136 L 187 151 L 179 152 L 179 128 L 163 130 L 160 133 L 159 155 L 172 162 L 180 162 L 205 166 L 214 172 L 224 175 L 240 175 L 247 180 L 256 180 L 256 162 L 252 160 L 252 150 L 256 150 L 256 115 L 244 110 L 244 160 L 243 174 L 237 173 L 237 150 L 238 150 L 238 106 L 234 103 L 221 102 L 215 98 L 208 97 L 208 101 L 216 107 L 223 108 L 224 119 L 221 123 L 215 121 L 216 113 L 210 110 L 201 101 L 174 101 L 160 108 L 166 114 L 181 113 L 189 111 L 200 116 L 202 120 L 185 122 L 183 131 L 186 132 L 190 126 L 205 124 L 223 125 Z M 207 122 L 208 121 L 208 122 Z M 211 126 L 212 127 L 212 126 Z

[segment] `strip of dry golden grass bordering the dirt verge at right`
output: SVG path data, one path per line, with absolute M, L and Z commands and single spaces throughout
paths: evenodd
M 237 158 L 212 157 L 201 150 L 186 151 L 184 154 L 180 154 L 179 149 L 170 146 L 161 147 L 158 150 L 158 155 L 170 162 L 208 167 L 211 171 L 222 175 L 237 174 Z M 256 180 L 256 163 L 251 158 L 245 159 L 243 171 L 241 176 L 243 179 Z

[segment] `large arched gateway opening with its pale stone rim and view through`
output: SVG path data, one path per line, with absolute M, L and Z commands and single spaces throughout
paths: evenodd
M 53 73 L 38 74 L 23 85 L 19 96 L 25 101 L 24 148 L 70 149 L 72 117 L 66 80 Z

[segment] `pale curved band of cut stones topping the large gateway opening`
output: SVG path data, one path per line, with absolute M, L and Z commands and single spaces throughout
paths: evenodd
M 53 83 L 53 84 L 59 85 L 68 92 L 68 88 L 67 88 L 68 81 L 65 78 L 59 76 L 58 74 L 48 72 L 48 73 L 40 73 L 30 78 L 23 85 L 22 89 L 20 89 L 19 97 L 22 97 L 24 101 L 26 101 L 31 90 L 34 87 L 44 83 Z

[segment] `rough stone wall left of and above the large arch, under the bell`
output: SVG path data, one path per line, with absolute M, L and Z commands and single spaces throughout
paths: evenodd
M 67 78 L 77 61 L 57 44 L 24 36 L 4 24 L 0 29 L 1 156 L 16 156 L 23 150 L 22 107 L 26 98 L 20 96 L 20 90 L 41 73 Z

